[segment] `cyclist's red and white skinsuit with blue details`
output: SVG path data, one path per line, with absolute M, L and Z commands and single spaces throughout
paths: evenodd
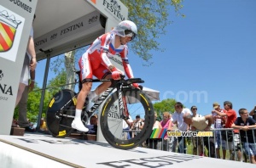
M 127 45 L 120 45 L 119 48 L 114 48 L 114 39 L 115 34 L 109 32 L 99 36 L 90 45 L 90 48 L 88 48 L 81 59 L 79 59 L 81 81 L 90 81 L 92 76 L 103 79 L 108 74 L 111 74 L 108 67 L 112 64 L 108 58 L 117 57 L 118 53 L 121 56 L 126 76 L 129 78 L 133 77 L 131 66 L 127 58 L 128 47 Z

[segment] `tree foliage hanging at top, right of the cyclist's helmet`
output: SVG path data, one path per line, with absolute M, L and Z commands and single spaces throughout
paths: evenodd
M 121 0 L 129 10 L 129 19 L 137 25 L 137 38 L 131 43 L 131 50 L 150 65 L 152 58 L 150 50 L 163 51 L 157 39 L 166 33 L 166 25 L 172 23 L 168 20 L 170 8 L 173 7 L 177 15 L 183 8 L 183 0 Z

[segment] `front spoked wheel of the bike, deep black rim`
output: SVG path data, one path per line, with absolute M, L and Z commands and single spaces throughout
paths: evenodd
M 135 119 L 136 115 L 140 115 L 144 119 L 142 131 L 137 132 L 136 137 L 125 138 L 124 135 L 127 132 L 123 130 L 125 120 L 119 114 L 118 92 L 114 92 L 103 105 L 100 124 L 102 134 L 110 145 L 114 148 L 131 149 L 142 144 L 150 137 L 154 125 L 154 109 L 150 100 L 140 90 L 124 91 L 124 95 L 127 109 L 132 119 Z

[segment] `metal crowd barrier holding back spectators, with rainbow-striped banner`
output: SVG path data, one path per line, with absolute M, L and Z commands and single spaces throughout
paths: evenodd
M 148 137 L 147 141 L 145 142 L 145 145 L 143 145 L 143 147 L 146 148 L 153 148 L 153 149 L 158 149 L 158 150 L 166 150 L 166 151 L 170 151 L 170 152 L 177 152 L 178 149 L 178 142 L 177 142 L 177 137 L 168 137 L 167 139 L 164 139 L 163 137 L 166 134 L 166 129 L 156 129 L 158 131 L 153 131 L 151 133 L 151 136 Z M 253 143 L 256 145 L 256 128 L 254 129 L 250 129 L 250 130 L 254 130 L 253 131 L 253 135 L 247 135 L 246 132 L 246 142 L 248 143 L 248 138 L 247 136 L 253 136 Z M 237 156 L 237 151 L 241 151 L 241 160 L 242 158 L 244 158 L 243 161 L 247 162 L 247 160 L 249 160 L 249 162 L 251 163 L 251 158 L 248 157 L 245 154 L 245 148 L 244 148 L 244 142 L 241 142 L 241 134 L 240 132 L 238 133 L 234 133 L 233 132 L 234 129 L 233 128 L 220 128 L 220 129 L 212 129 L 210 132 L 213 132 L 213 136 L 212 137 L 195 137 L 196 140 L 196 155 L 200 155 L 199 154 L 199 145 L 202 145 L 202 154 L 204 156 L 208 156 L 208 157 L 212 157 L 212 158 L 218 158 L 217 156 L 217 134 L 220 134 L 220 146 L 223 150 L 223 144 L 224 144 L 224 140 L 223 137 L 225 136 L 227 139 L 227 141 L 229 141 L 229 137 L 232 137 L 229 144 L 227 144 L 227 141 L 225 142 L 225 147 L 226 147 L 226 156 L 229 153 L 230 154 L 230 160 L 238 160 L 238 156 Z M 139 132 L 139 131 L 135 131 L 135 130 L 124 130 L 124 132 Z M 193 132 L 199 132 L 199 131 L 193 131 Z M 221 133 L 223 132 L 223 133 Z M 223 135 L 221 135 L 223 134 Z M 236 141 L 236 134 L 239 137 L 239 141 Z M 192 142 L 192 138 L 193 137 L 182 137 L 182 138 L 186 138 L 187 139 L 187 143 L 188 142 Z M 199 139 L 201 138 L 201 144 L 199 144 Z M 192 154 L 193 154 L 193 144 L 189 144 L 187 145 L 187 148 L 192 146 Z M 206 154 L 206 150 L 205 147 L 207 148 L 207 154 Z M 236 147 L 236 148 L 235 148 Z M 187 148 L 183 148 L 184 151 L 187 150 Z M 182 152 L 181 152 L 182 153 Z M 219 158 L 222 158 L 223 154 L 219 155 Z M 240 160 L 238 160 L 240 161 Z

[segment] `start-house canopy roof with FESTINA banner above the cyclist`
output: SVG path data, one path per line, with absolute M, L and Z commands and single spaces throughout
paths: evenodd
M 111 0 L 40 0 L 34 20 L 38 60 L 90 44 L 97 36 L 127 19 L 128 9 Z M 108 30 L 107 30 L 108 29 Z

